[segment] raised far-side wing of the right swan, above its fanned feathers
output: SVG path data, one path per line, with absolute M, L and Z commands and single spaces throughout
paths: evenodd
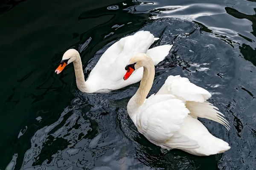
M 212 96 L 209 91 L 198 87 L 180 75 L 169 76 L 157 94 L 172 94 L 184 102 L 204 102 Z

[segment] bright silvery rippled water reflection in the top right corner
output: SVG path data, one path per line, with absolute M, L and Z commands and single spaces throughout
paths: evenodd
M 235 6 L 241 11 L 250 11 L 250 13 L 255 14 L 255 9 L 250 6 L 253 6 L 253 4 L 248 4 L 246 1 L 241 2 L 239 5 L 236 5 L 236 3 L 237 1 L 227 1 L 226 5 L 233 7 Z M 215 34 L 216 37 L 219 37 L 221 40 L 227 42 L 232 47 L 240 45 L 244 42 L 244 39 L 255 41 L 255 34 L 253 34 L 254 36 L 251 36 L 247 31 L 245 31 L 251 28 L 251 22 L 255 23 L 253 19 L 254 15 L 243 14 L 240 12 L 241 16 L 239 15 L 239 17 L 234 18 L 232 16 L 236 15 L 233 14 L 234 12 L 232 12 L 232 14 L 230 12 L 237 10 L 233 7 L 224 8 L 223 4 L 221 3 L 203 3 L 200 1 L 191 3 L 191 1 L 186 0 L 180 2 L 179 4 L 173 2 L 167 5 L 166 3 L 161 3 L 160 1 L 154 3 L 154 5 L 151 7 L 151 10 L 149 11 L 151 11 L 152 14 L 157 12 L 153 19 L 160 17 L 177 17 L 184 20 L 191 20 L 200 25 L 204 25 L 204 28 L 207 28 L 207 30 L 204 31 L 211 31 Z M 140 8 L 142 7 L 140 6 Z M 248 20 L 237 20 L 242 18 Z M 238 35 L 241 38 L 238 38 Z M 253 44 L 250 45 L 255 46 Z

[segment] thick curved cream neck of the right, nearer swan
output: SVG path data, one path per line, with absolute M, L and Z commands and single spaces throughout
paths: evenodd
M 147 61 L 144 62 L 143 65 L 143 77 L 140 82 L 140 87 L 137 90 L 136 94 L 132 96 L 132 98 L 129 100 L 127 105 L 127 111 L 133 122 L 136 121 L 137 116 L 137 110 L 143 103 L 145 102 L 145 99 L 153 85 L 154 81 L 154 62 L 151 58 L 147 58 Z

